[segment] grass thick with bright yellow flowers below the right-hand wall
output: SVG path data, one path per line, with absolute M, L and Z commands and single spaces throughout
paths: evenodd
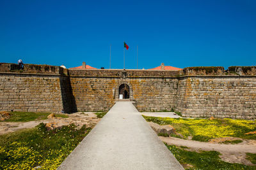
M 172 125 L 184 138 L 191 136 L 196 141 L 209 141 L 209 139 L 224 137 L 256 139 L 256 134 L 245 134 L 256 131 L 255 120 L 143 117 L 147 122 Z M 239 141 L 233 143 L 236 142 L 239 143 Z

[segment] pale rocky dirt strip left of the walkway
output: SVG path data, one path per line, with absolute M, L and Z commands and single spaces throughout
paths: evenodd
M 18 131 L 20 129 L 33 128 L 42 122 L 44 124 L 60 126 L 75 124 L 77 129 L 79 129 L 83 125 L 86 125 L 86 127 L 94 127 L 100 121 L 100 118 L 97 118 L 97 115 L 92 112 L 77 112 L 67 115 L 68 118 L 52 117 L 46 120 L 35 120 L 31 122 L 0 122 L 0 135 Z

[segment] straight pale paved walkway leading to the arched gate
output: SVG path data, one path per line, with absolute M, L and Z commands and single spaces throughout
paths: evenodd
M 130 101 L 118 101 L 58 169 L 183 169 Z

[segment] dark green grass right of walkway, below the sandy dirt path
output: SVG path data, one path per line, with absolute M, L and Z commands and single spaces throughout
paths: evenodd
M 190 152 L 175 145 L 166 145 L 180 164 L 190 164 L 188 169 L 256 169 L 256 166 L 245 166 L 243 164 L 232 164 L 220 159 L 220 153 L 216 151 Z

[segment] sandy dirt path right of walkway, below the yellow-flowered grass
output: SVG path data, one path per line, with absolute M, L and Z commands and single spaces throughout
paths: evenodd
M 255 166 L 250 160 L 246 160 L 246 153 L 256 153 L 256 140 L 243 140 L 243 143 L 238 144 L 221 144 L 221 143 L 207 143 L 200 141 L 192 141 L 173 137 L 159 136 L 161 141 L 168 145 L 187 146 L 185 150 L 200 152 L 202 150 L 215 150 L 220 152 L 221 160 L 230 163 L 245 164 L 248 166 Z M 240 139 L 240 138 L 238 138 Z

